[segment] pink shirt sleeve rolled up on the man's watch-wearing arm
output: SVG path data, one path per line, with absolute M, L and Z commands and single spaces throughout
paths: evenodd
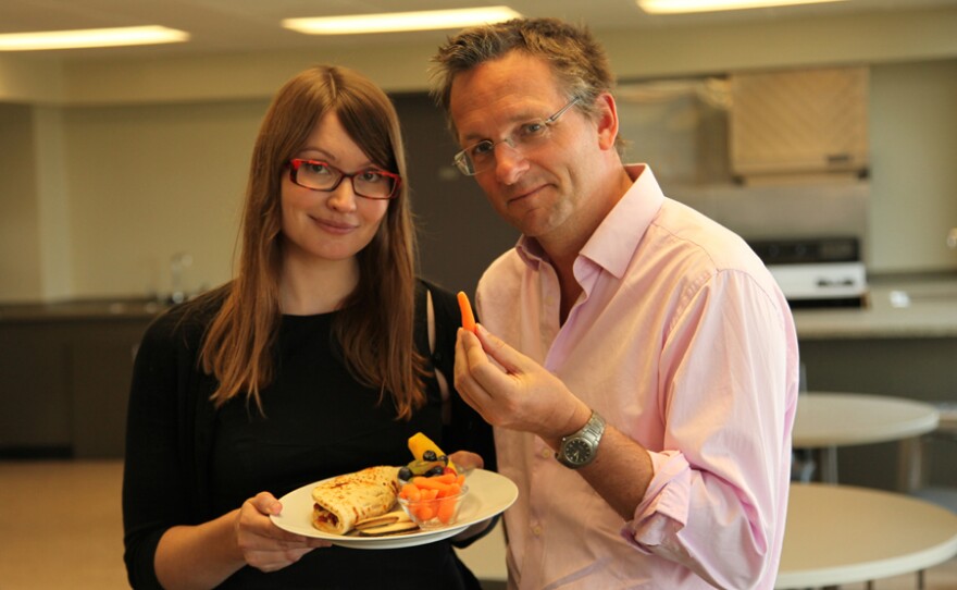
M 688 296 L 660 359 L 655 476 L 622 529 L 721 588 L 771 588 L 783 540 L 797 352 L 774 295 L 722 271 Z

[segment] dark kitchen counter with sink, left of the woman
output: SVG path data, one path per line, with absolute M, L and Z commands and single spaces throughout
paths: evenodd
M 165 306 L 0 306 L 0 457 L 122 457 L 133 360 Z

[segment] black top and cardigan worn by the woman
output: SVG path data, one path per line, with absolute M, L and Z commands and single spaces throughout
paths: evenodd
M 417 294 L 417 348 L 428 355 L 424 283 Z M 435 308 L 431 360 L 451 383 L 458 307 L 428 285 Z M 356 382 L 331 339 L 335 314 L 284 316 L 276 376 L 261 392 L 264 416 L 245 396 L 215 411 L 215 381 L 197 367 L 202 333 L 219 305 L 178 306 L 147 330 L 134 369 L 123 482 L 124 558 L 135 588 L 159 588 L 157 544 L 174 525 L 196 525 L 260 491 L 276 497 L 372 465 L 411 460 L 424 432 L 446 452 L 480 453 L 495 468 L 492 429 L 452 390 L 449 425 L 435 379 L 428 403 L 397 420 L 390 397 Z M 272 574 L 244 567 L 221 588 L 477 588 L 449 541 L 394 550 L 320 548 Z

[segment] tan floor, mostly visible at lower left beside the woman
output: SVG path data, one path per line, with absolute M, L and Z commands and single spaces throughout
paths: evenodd
M 128 588 L 121 477 L 119 462 L 0 462 L 0 588 Z M 957 560 L 928 570 L 925 581 L 925 590 L 957 590 Z M 504 588 L 492 582 L 486 590 Z M 915 588 L 916 576 L 874 583 L 875 590 Z

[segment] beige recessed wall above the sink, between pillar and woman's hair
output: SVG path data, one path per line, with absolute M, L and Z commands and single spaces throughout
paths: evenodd
M 77 296 L 166 294 L 231 276 L 249 157 L 266 103 L 132 105 L 64 116 Z

